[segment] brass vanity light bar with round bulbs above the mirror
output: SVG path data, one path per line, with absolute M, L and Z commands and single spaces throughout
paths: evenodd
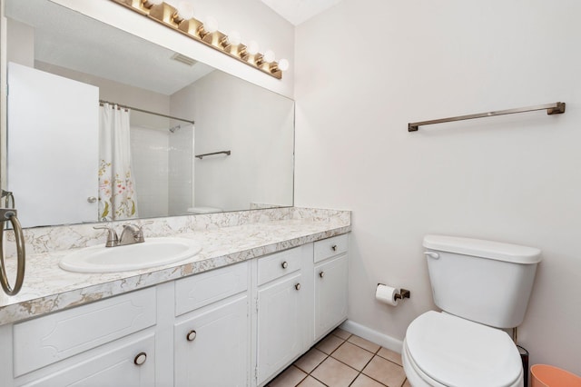
M 242 44 L 238 32 L 232 31 L 226 35 L 218 31 L 218 22 L 213 17 L 208 16 L 203 22 L 195 19 L 193 7 L 188 1 L 180 2 L 177 8 L 164 3 L 162 0 L 111 1 L 126 6 L 140 15 L 147 16 L 174 31 L 208 45 L 243 64 L 251 65 L 277 79 L 281 79 L 282 72 L 289 69 L 288 60 L 281 59 L 277 62 L 274 53 L 270 50 L 261 54 L 256 42 L 251 41 L 248 45 Z M 179 58 L 174 59 L 182 62 Z M 190 58 L 187 59 L 190 60 Z

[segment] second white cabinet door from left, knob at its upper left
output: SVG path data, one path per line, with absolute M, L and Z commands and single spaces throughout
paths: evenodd
M 175 385 L 248 385 L 248 296 L 234 296 L 183 317 L 173 331 Z

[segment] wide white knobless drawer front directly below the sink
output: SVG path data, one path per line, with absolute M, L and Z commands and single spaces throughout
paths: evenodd
M 15 376 L 155 325 L 155 288 L 17 323 Z

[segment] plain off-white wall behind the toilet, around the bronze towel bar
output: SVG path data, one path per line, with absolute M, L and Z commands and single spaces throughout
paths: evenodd
M 537 246 L 519 341 L 581 374 L 581 3 L 344 0 L 297 28 L 295 204 L 353 211 L 349 317 L 395 339 L 434 308 L 421 241 Z M 408 133 L 409 122 L 566 102 Z M 377 283 L 407 287 L 398 306 Z

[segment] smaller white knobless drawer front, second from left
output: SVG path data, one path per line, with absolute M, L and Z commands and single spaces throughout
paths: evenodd
M 175 315 L 191 312 L 248 289 L 248 263 L 237 263 L 175 282 Z

